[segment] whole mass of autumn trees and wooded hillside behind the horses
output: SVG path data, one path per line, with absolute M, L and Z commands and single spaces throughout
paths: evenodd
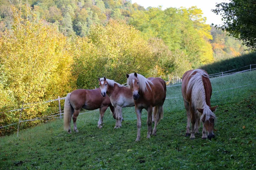
M 162 10 L 130 0 L 1 0 L 0 126 L 19 118 L 19 112 L 5 111 L 95 88 L 98 77 L 119 83 L 134 71 L 181 77 L 247 53 L 241 42 L 205 21 L 195 6 Z M 22 119 L 52 113 L 49 106 L 33 104 Z M 11 131 L 1 129 L 0 135 Z

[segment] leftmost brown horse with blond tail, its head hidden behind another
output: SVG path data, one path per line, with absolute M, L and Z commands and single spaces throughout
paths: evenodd
M 109 97 L 102 97 L 99 88 L 93 90 L 78 89 L 67 94 L 64 104 L 64 130 L 71 133 L 70 122 L 73 115 L 73 123 L 75 132 L 78 132 L 76 127 L 76 119 L 81 108 L 86 110 L 95 110 L 99 108 L 100 116 L 98 127 L 102 128 L 103 116 L 107 108 L 110 107 L 113 118 L 116 118 L 114 107 L 111 105 Z

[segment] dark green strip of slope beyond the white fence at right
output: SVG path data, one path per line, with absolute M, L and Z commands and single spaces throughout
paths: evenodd
M 243 71 L 246 69 L 250 69 L 250 66 L 248 66 L 247 68 L 244 68 L 244 66 L 253 65 L 253 64 L 256 64 L 256 53 L 246 54 L 240 57 L 235 57 L 231 59 L 214 62 L 209 65 L 203 65 L 200 68 L 207 71 L 208 74 L 215 74 L 223 71 L 230 71 L 237 68 L 241 68 L 241 69 L 237 69 L 234 72 Z M 256 68 L 256 67 L 252 66 L 251 68 Z

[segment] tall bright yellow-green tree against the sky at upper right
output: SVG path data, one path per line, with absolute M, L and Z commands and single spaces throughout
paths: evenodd
M 202 11 L 196 7 L 148 8 L 135 11 L 129 21 L 142 31 L 143 36 L 163 39 L 172 51 L 180 50 L 186 54 L 193 68 L 213 62 L 212 39 L 209 25 L 205 24 Z

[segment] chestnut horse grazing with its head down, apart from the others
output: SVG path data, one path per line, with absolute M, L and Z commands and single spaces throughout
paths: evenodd
M 189 70 L 182 77 L 182 95 L 187 112 L 186 136 L 195 139 L 198 133 L 200 121 L 203 122 L 202 139 L 212 139 L 215 137 L 214 120 L 216 118 L 213 111 L 218 106 L 211 108 L 212 85 L 209 75 L 201 69 Z M 191 121 L 191 133 L 189 131 Z M 206 135 L 208 132 L 208 136 Z

